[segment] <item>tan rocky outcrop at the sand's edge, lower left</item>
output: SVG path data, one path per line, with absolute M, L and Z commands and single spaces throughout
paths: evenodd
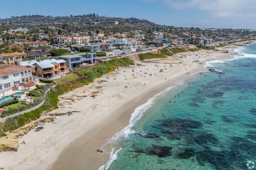
M 0 138 L 0 152 L 6 152 L 6 151 L 17 151 L 19 147 L 18 139 L 22 136 L 28 133 L 31 129 L 34 129 L 34 127 L 38 124 L 38 122 L 51 122 L 54 121 L 53 116 L 42 116 L 39 119 L 35 121 L 31 121 L 30 123 L 27 123 L 26 125 L 11 131 L 10 133 L 6 133 L 6 137 Z

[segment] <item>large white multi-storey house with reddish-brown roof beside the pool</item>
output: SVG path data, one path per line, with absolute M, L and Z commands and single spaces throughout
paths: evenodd
M 7 96 L 13 86 L 32 80 L 30 68 L 10 64 L 0 64 L 0 92 Z

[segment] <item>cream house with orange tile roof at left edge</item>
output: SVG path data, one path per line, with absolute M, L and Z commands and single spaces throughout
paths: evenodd
M 17 65 L 19 61 L 22 61 L 27 56 L 26 53 L 14 52 L 0 54 L 0 61 L 5 64 Z

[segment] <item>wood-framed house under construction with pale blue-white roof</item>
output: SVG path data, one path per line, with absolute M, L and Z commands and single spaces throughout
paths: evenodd
M 67 72 L 68 70 L 66 61 L 62 59 L 21 61 L 18 64 L 20 66 L 26 66 L 30 68 L 32 70 L 32 75 L 42 78 L 53 78 L 59 76 L 62 72 Z

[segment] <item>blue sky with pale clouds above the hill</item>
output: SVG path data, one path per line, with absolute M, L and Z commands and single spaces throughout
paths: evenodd
M 1 0 L 0 6 L 0 18 L 95 13 L 175 27 L 256 29 L 256 0 Z

